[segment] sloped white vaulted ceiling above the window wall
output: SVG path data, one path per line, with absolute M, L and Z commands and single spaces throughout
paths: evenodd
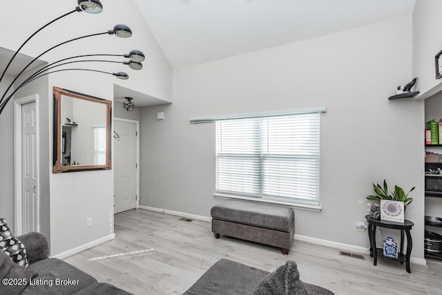
M 173 68 L 412 14 L 416 0 L 135 0 Z

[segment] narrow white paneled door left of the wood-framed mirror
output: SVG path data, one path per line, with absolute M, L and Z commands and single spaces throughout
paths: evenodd
M 37 112 L 35 102 L 21 107 L 21 205 L 23 234 L 39 231 L 37 188 Z

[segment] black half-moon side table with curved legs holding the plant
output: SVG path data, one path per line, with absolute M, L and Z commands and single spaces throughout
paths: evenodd
M 405 219 L 404 223 L 394 223 L 391 221 L 381 221 L 381 219 L 372 218 L 369 215 L 365 215 L 365 219 L 367 219 L 368 223 L 368 238 L 370 241 L 370 256 L 374 258 L 373 265 L 377 264 L 378 256 L 382 258 L 392 259 L 395 261 L 400 261 L 401 263 L 405 262 L 405 268 L 407 272 L 411 274 L 410 270 L 410 255 L 412 254 L 412 235 L 410 234 L 410 230 L 414 223 Z M 392 228 L 393 230 L 401 231 L 401 251 L 398 253 L 398 258 L 392 258 L 384 256 L 383 248 L 376 248 L 376 227 L 385 227 Z M 407 252 L 405 255 L 403 254 L 403 234 L 407 236 Z

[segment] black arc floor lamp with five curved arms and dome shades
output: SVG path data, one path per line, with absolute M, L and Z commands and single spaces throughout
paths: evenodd
M 44 28 L 49 26 L 51 23 L 54 23 L 55 21 L 58 21 L 59 19 L 62 19 L 70 14 L 73 14 L 74 12 L 87 12 L 90 14 L 97 14 L 97 13 L 102 12 L 102 10 L 103 10 L 102 3 L 99 0 L 78 0 L 77 3 L 78 3 L 78 6 L 74 10 L 72 10 L 66 14 L 63 14 L 60 17 L 57 17 L 56 19 L 53 19 L 52 21 L 46 23 L 46 25 L 42 26 L 37 31 L 35 31 L 33 34 L 31 34 L 30 37 L 28 37 L 28 39 L 26 39 L 26 41 L 24 41 L 23 44 L 20 45 L 19 49 L 12 55 L 10 61 L 8 61 L 8 64 L 6 65 L 6 68 L 2 72 L 2 74 L 0 76 L 0 85 L 1 85 L 1 81 L 3 80 L 3 77 L 5 76 L 6 72 L 8 71 L 8 68 L 10 67 L 12 61 L 14 61 L 15 57 L 17 57 L 17 54 L 19 54 L 21 48 L 23 48 L 23 46 L 26 45 L 26 43 L 28 43 L 28 41 L 30 41 L 30 39 L 32 39 L 32 37 L 34 37 L 38 32 L 40 32 L 41 30 L 43 30 Z M 116 37 L 120 37 L 120 38 L 128 38 L 128 37 L 132 36 L 132 30 L 128 26 L 118 24 L 118 25 L 114 26 L 113 30 L 108 30 L 106 32 L 99 32 L 96 34 L 88 34 L 86 36 L 81 36 L 81 37 L 77 37 L 74 39 L 70 39 L 68 41 L 64 41 L 64 42 L 61 42 L 55 46 L 52 46 L 48 50 L 45 50 L 44 52 L 39 54 L 37 57 L 35 57 L 35 59 L 30 61 L 30 63 L 28 63 L 21 70 L 21 72 L 19 72 L 19 74 L 17 74 L 15 79 L 13 79 L 13 81 L 8 85 L 8 87 L 6 87 L 6 85 L 5 85 L 6 90 L 3 92 L 3 94 L 0 93 L 1 94 L 0 114 L 1 114 L 1 112 L 3 112 L 8 101 L 10 101 L 12 96 L 14 96 L 15 92 L 17 92 L 19 89 L 21 89 L 23 86 L 27 85 L 28 83 L 35 81 L 35 79 L 39 79 L 40 77 L 44 77 L 47 74 L 51 74 L 51 73 L 55 73 L 55 72 L 77 70 L 77 71 L 99 72 L 102 74 L 112 74 L 113 76 L 115 76 L 119 79 L 124 79 L 124 80 L 129 78 L 128 74 L 126 74 L 125 72 L 105 72 L 102 70 L 92 70 L 92 69 L 86 69 L 86 68 L 62 68 L 62 69 L 52 70 L 52 69 L 57 68 L 59 66 L 74 64 L 74 63 L 106 62 L 106 63 L 122 63 L 124 65 L 128 65 L 129 68 L 131 68 L 133 70 L 141 70 L 143 68 L 143 65 L 141 62 L 144 61 L 145 57 L 144 57 L 143 52 L 141 52 L 140 50 L 131 50 L 131 52 L 129 52 L 128 54 L 77 55 L 75 57 L 66 57 L 65 59 L 60 59 L 59 61 L 55 61 L 53 63 L 46 65 L 44 68 L 36 70 L 35 72 L 31 73 L 29 75 L 29 77 L 24 79 L 24 81 L 20 85 L 18 85 L 14 90 L 11 89 L 14 86 L 14 83 L 17 81 L 17 79 L 19 79 L 19 77 L 21 77 L 23 75 L 23 73 L 30 67 L 30 65 L 32 65 L 32 63 L 37 61 L 37 59 L 39 59 L 42 55 L 46 54 L 50 50 L 53 50 L 61 45 L 66 44 L 66 43 L 70 43 L 70 42 L 77 41 L 79 39 L 88 38 L 88 37 L 95 37 L 95 36 L 99 36 L 102 34 L 110 34 L 110 35 L 115 35 Z M 89 57 L 124 57 L 126 59 L 128 58 L 129 61 L 112 61 L 112 60 L 107 60 L 107 59 L 81 59 L 81 58 L 85 58 L 85 57 L 86 58 L 89 58 Z

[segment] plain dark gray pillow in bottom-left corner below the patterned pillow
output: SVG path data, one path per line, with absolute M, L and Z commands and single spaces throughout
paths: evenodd
M 0 294 L 20 294 L 35 276 L 37 272 L 21 267 L 0 251 Z

